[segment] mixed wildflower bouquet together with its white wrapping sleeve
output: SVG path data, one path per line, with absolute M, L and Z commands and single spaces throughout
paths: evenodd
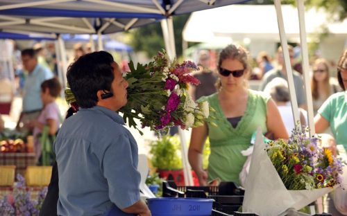
M 339 185 L 343 164 L 318 142 L 296 127 L 288 142 L 265 145 L 258 129 L 242 210 L 281 215 L 289 208 L 300 210 Z

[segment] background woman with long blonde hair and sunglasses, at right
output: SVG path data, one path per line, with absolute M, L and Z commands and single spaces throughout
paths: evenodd
M 312 79 L 311 79 L 311 90 L 312 90 L 312 101 L 314 114 L 323 102 L 329 98 L 333 93 L 337 93 L 341 88 L 338 84 L 332 82 L 330 78 L 329 64 L 323 59 L 317 59 L 312 65 Z

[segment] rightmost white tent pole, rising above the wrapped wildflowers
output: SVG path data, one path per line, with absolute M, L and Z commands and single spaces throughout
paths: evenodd
M 307 114 L 308 114 L 308 126 L 310 129 L 310 136 L 316 134 L 314 129 L 314 115 L 313 115 L 313 103 L 312 103 L 312 91 L 310 84 L 310 66 L 308 60 L 308 49 L 306 41 L 306 29 L 305 29 L 305 7 L 303 0 L 297 0 L 298 3 L 298 17 L 300 27 L 300 42 L 301 42 L 301 56 L 303 57 L 303 78 L 305 84 L 305 93 L 307 100 Z

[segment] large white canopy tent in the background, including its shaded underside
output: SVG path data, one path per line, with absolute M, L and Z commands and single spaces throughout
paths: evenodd
M 282 6 L 282 14 L 287 39 L 300 42 L 296 8 Z M 337 60 L 344 44 L 347 46 L 347 20 L 335 22 L 328 18 L 323 9 L 305 11 L 307 40 L 316 41 L 316 33 L 328 30 L 329 35 L 321 40 L 320 49 L 328 59 Z M 183 30 L 183 39 L 186 42 L 223 42 L 225 45 L 232 41 L 243 42 L 253 57 L 260 51 L 273 55 L 276 43 L 280 42 L 276 20 L 276 10 L 271 5 L 232 5 L 193 12 Z

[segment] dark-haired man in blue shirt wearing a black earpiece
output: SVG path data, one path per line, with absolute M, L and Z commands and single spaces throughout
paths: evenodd
M 67 81 L 81 109 L 53 145 L 59 173 L 58 215 L 151 215 L 139 197 L 137 143 L 115 111 L 128 82 L 112 55 L 89 53 L 69 66 Z

